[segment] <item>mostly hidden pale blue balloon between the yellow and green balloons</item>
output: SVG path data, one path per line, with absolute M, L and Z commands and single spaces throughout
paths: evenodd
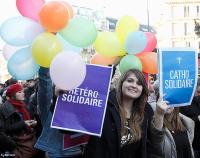
M 61 42 L 63 50 L 71 50 L 71 51 L 76 52 L 76 53 L 81 53 L 82 48 L 71 45 L 64 38 L 62 38 L 62 36 L 60 36 L 59 34 L 56 34 L 56 37 Z

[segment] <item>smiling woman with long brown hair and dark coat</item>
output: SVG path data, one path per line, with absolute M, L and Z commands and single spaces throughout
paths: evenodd
M 109 94 L 101 137 L 90 136 L 84 158 L 146 158 L 153 110 L 148 87 L 137 69 L 119 78 Z

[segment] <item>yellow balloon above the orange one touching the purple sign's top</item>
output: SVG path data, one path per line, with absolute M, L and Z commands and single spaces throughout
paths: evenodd
M 114 32 L 99 32 L 94 42 L 95 50 L 102 56 L 123 56 L 125 52 Z

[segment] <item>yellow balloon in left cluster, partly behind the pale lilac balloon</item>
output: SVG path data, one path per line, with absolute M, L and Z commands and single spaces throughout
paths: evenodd
M 43 67 L 49 67 L 52 59 L 62 50 L 62 45 L 56 35 L 42 33 L 32 44 L 32 55 L 35 61 Z

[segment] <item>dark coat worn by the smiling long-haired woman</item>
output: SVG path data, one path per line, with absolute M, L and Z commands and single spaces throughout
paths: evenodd
M 140 146 L 141 158 L 147 157 L 147 140 L 148 130 L 150 129 L 153 110 L 147 103 L 145 107 L 145 117 L 142 123 L 142 145 Z M 115 92 L 112 91 L 109 95 L 107 103 L 106 115 L 101 137 L 91 136 L 86 146 L 84 158 L 120 158 L 120 143 L 121 143 L 121 120 L 118 110 L 118 105 L 115 97 Z M 132 153 L 130 151 L 131 157 Z M 139 157 L 138 157 L 139 158 Z

